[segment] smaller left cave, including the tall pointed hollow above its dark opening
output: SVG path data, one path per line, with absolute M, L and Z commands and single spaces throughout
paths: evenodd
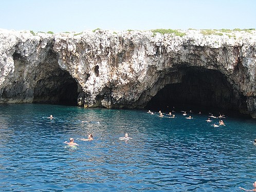
M 33 103 L 77 105 L 78 83 L 59 67 L 58 57 L 52 50 L 39 65 L 34 79 Z

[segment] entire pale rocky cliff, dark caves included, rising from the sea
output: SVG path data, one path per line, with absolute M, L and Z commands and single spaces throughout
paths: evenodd
M 256 118 L 255 30 L 0 30 L 0 103 L 179 105 Z

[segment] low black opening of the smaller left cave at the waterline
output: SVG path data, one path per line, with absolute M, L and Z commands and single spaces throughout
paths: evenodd
M 67 71 L 59 69 L 36 83 L 33 103 L 77 105 L 77 97 L 77 82 Z

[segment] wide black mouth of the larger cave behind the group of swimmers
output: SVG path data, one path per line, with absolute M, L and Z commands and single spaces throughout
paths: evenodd
M 220 71 L 189 67 L 176 73 L 181 76 L 179 83 L 164 86 L 145 108 L 233 113 L 246 109 L 246 97 L 235 91 Z

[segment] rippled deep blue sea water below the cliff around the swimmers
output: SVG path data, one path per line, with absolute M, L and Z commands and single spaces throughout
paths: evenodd
M 47 119 L 52 114 L 54 119 Z M 0 105 L 0 190 L 237 191 L 256 181 L 256 121 Z M 82 121 L 91 121 L 82 123 Z M 99 123 L 98 123 L 99 122 Z M 132 140 L 119 141 L 128 132 Z M 88 133 L 93 141 L 82 141 Z M 79 144 L 69 147 L 72 137 Z

